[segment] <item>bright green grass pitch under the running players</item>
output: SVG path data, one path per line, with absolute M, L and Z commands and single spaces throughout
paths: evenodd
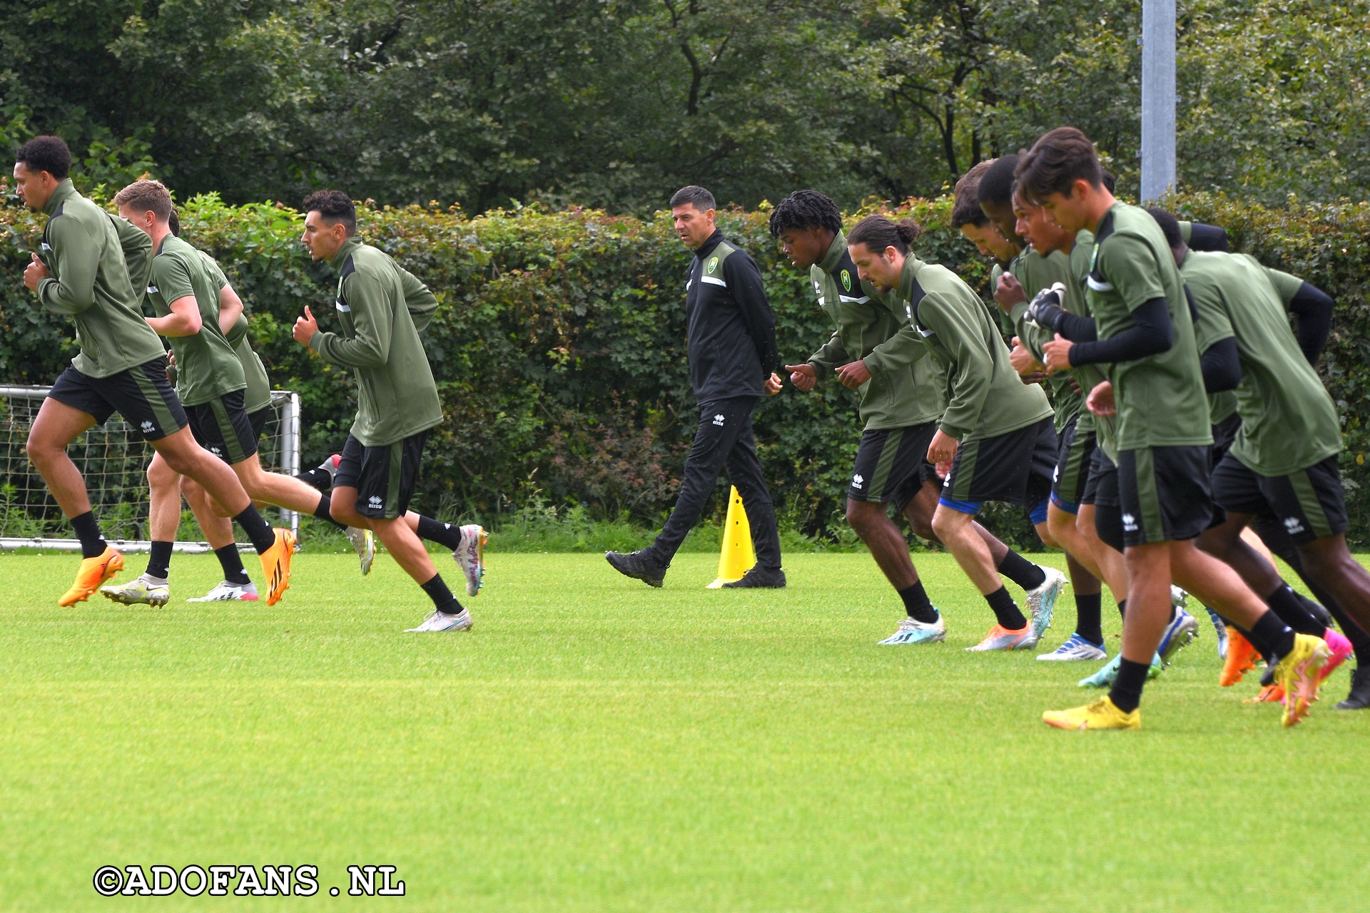
M 0 557 L 0 909 L 1355 906 L 1370 715 L 1332 709 L 1345 671 L 1284 731 L 1251 679 L 1217 686 L 1204 620 L 1141 732 L 1048 730 L 1093 665 L 962 652 L 989 613 L 917 560 L 944 645 L 875 646 L 901 609 L 864 554 L 788 557 L 760 593 L 704 590 L 704 554 L 663 590 L 496 554 L 459 635 L 401 632 L 427 609 L 388 557 L 301 556 L 270 609 L 181 602 L 212 556 L 177 557 L 164 609 L 59 609 L 75 557 Z M 105 899 L 108 864 L 312 864 L 321 891 Z M 406 897 L 348 898 L 349 864 Z

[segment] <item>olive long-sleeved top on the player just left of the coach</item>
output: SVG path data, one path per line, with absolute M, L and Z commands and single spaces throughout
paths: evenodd
M 352 437 L 379 448 L 440 424 L 443 404 L 419 339 L 437 298 L 390 255 L 356 238 L 338 248 L 333 268 L 341 333 L 321 330 L 310 348 L 356 376 Z

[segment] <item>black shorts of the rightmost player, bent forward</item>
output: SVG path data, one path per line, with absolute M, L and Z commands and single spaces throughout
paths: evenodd
M 1232 513 L 1274 517 L 1296 545 L 1347 531 L 1337 457 L 1289 475 L 1256 475 L 1230 453 L 1212 472 L 1212 497 Z

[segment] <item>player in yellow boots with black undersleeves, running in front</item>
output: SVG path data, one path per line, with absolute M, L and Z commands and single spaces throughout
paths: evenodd
M 1138 728 L 1137 705 L 1152 657 L 1171 619 L 1171 578 L 1206 605 L 1252 632 L 1280 660 L 1289 694 L 1284 724 L 1299 723 L 1317 697 L 1328 645 L 1296 634 L 1237 574 L 1193 539 L 1212 516 L 1208 448 L 1212 433 L 1193 322 L 1169 245 L 1145 211 L 1118 203 L 1103 186 L 1088 137 L 1060 127 L 1037 140 L 1019 171 L 1023 196 L 1060 227 L 1095 235 L 1089 272 L 1093 319 L 1038 319 L 1058 338 L 1044 346 L 1048 368 L 1107 364 L 1111 383 L 1088 397 L 1097 413 L 1117 412 L 1118 480 L 1129 569 L 1122 660 L 1108 695 L 1047 712 L 1060 728 Z M 1032 309 L 1030 309 L 1032 311 Z

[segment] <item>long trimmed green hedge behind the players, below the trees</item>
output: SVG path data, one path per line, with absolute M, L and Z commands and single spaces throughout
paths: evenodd
M 1229 229 L 1237 246 L 1292 270 L 1337 297 L 1328 360 L 1347 416 L 1347 478 L 1354 532 L 1370 541 L 1362 508 L 1367 431 L 1362 404 L 1367 275 L 1366 205 L 1265 209 L 1214 196 L 1173 200 L 1177 211 Z M 900 208 L 925 224 L 923 259 L 984 287 L 988 271 L 949 230 L 949 200 Z M 781 353 L 800 360 L 832 326 L 806 277 L 766 230 L 767 211 L 729 211 L 723 231 L 760 264 L 778 320 Z M 854 216 L 855 218 L 855 216 Z M 684 279 L 689 261 L 666 214 L 652 220 L 571 209 L 523 208 L 467 219 L 410 207 L 363 208 L 362 235 L 390 252 L 443 303 L 426 333 L 448 420 L 426 452 L 422 506 L 443 516 L 499 517 L 530 504 L 584 505 L 589 516 L 659 522 L 678 485 L 695 409 L 685 360 Z M 41 218 L 0 208 L 0 372 L 8 383 L 48 383 L 70 359 L 70 323 L 36 308 L 22 264 Z M 289 208 L 227 207 L 199 197 L 182 209 L 185 237 L 223 264 L 252 315 L 253 338 L 278 387 L 300 391 L 306 461 L 342 442 L 352 415 L 347 372 L 290 339 L 306 304 L 327 329 L 336 279 L 299 244 Z M 860 424 L 854 394 L 836 383 L 792 387 L 758 409 L 762 460 L 789 526 L 830 535 L 843 526 Z M 999 511 L 1001 534 L 1029 543 L 1017 512 Z

